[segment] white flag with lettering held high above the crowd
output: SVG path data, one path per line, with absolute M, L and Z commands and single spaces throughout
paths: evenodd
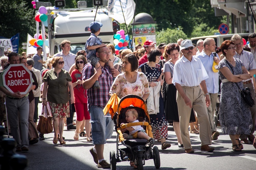
M 123 12 L 122 12 L 122 8 Z M 133 0 L 109 0 L 108 1 L 109 17 L 112 17 L 119 23 L 125 23 L 128 25 L 134 15 L 135 2 Z M 125 20 L 124 20 L 125 17 Z

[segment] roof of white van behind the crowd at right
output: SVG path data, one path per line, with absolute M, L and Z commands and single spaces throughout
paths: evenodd
M 251 34 L 251 33 L 238 33 L 238 34 L 241 35 L 247 42 L 248 35 Z M 223 43 L 223 41 L 228 40 L 228 39 L 230 40 L 233 35 L 234 34 L 221 34 L 221 35 L 209 35 L 209 36 L 202 36 L 202 37 L 193 37 L 193 38 L 191 38 L 191 41 L 192 41 L 192 43 L 197 44 L 197 41 L 199 39 L 204 40 L 205 38 L 214 38 L 216 46 L 220 47 L 221 44 Z

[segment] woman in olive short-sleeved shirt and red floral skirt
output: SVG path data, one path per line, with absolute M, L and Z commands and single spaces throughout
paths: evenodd
M 62 69 L 64 66 L 62 57 L 54 57 L 52 66 L 53 69 L 48 70 L 43 78 L 43 105 L 46 106 L 46 102 L 49 102 L 51 107 L 54 129 L 53 143 L 57 144 L 58 142 L 59 129 L 60 145 L 65 145 L 66 142 L 62 138 L 64 118 L 69 117 L 69 100 L 71 104 L 74 103 L 72 78 L 68 71 Z

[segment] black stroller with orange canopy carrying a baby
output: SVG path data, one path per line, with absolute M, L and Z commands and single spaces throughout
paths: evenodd
M 145 160 L 154 159 L 155 168 L 160 168 L 160 155 L 158 148 L 151 147 L 150 142 L 147 139 L 124 139 L 120 128 L 124 129 L 129 126 L 134 126 L 134 123 L 127 123 L 125 119 L 125 113 L 128 109 L 134 108 L 138 112 L 138 120 L 136 125 L 142 125 L 148 136 L 153 137 L 151 132 L 150 117 L 147 112 L 147 105 L 145 101 L 137 95 L 127 95 L 123 97 L 117 108 L 117 112 L 112 115 L 112 120 L 115 124 L 115 131 L 117 132 L 116 137 L 116 154 L 115 151 L 110 152 L 110 165 L 111 170 L 116 169 L 116 163 L 121 162 L 121 160 L 132 161 L 134 165 L 138 167 L 139 170 L 143 169 L 145 165 Z M 121 123 L 127 123 L 120 127 Z M 129 133 L 129 132 L 127 132 Z M 118 142 L 121 141 L 121 144 Z M 126 148 L 119 149 L 120 145 Z

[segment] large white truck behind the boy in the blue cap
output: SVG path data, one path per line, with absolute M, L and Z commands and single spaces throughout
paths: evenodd
M 84 50 L 86 40 L 91 34 L 89 26 L 90 23 L 94 21 L 95 11 L 95 9 L 82 11 L 53 11 L 56 15 L 52 15 L 51 22 L 49 23 L 49 28 L 52 29 L 48 31 L 50 55 L 61 51 L 60 43 L 65 39 L 71 41 L 71 53 L 76 54 L 77 51 Z M 98 36 L 102 39 L 102 43 L 113 44 L 112 19 L 104 12 L 103 8 L 98 10 L 95 21 L 103 24 Z

